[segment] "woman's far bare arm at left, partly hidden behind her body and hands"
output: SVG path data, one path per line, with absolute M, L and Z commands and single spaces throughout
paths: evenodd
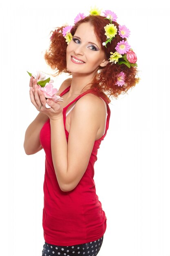
M 68 87 L 69 83 L 70 79 L 64 81 L 59 88 L 60 92 Z M 36 82 L 33 82 L 33 77 L 31 77 L 29 86 L 34 88 L 34 84 L 36 84 Z M 40 144 L 40 130 L 48 119 L 49 117 L 47 115 L 40 112 L 26 129 L 24 150 L 27 155 L 33 155 L 42 149 L 42 146 Z

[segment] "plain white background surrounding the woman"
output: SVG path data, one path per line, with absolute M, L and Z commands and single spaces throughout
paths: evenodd
M 49 72 L 49 33 L 91 6 L 126 25 L 141 81 L 110 103 L 95 183 L 107 216 L 99 256 L 170 256 L 169 11 L 161 1 L 11 1 L 0 4 L 0 255 L 41 256 L 44 151 L 26 155 L 26 128 L 38 115 L 29 75 Z M 52 76 L 51 76 L 52 77 Z M 55 79 L 55 87 L 67 76 Z

